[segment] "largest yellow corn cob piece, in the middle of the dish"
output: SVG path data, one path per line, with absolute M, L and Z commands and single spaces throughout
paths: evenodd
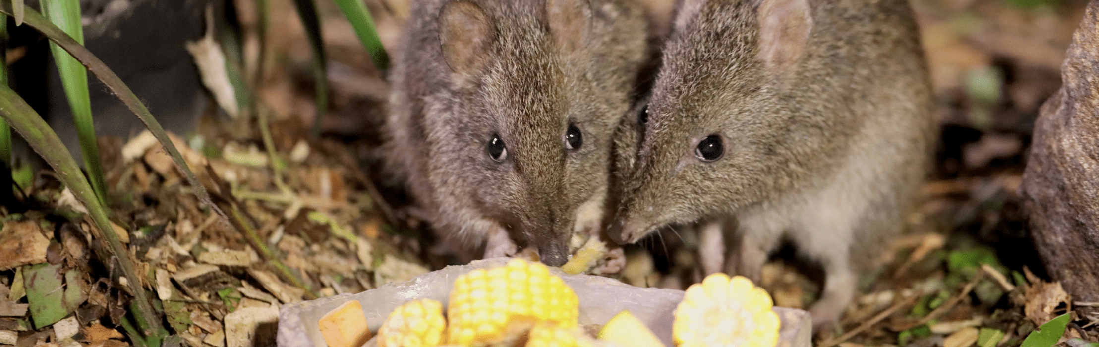
M 579 300 L 545 265 L 512 259 L 455 279 L 446 315 L 449 344 L 492 344 L 535 322 L 576 325 Z

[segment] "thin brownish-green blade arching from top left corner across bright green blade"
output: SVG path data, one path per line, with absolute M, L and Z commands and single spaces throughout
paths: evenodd
M 11 15 L 11 3 L 0 1 L 0 5 L 3 7 L 0 9 L 0 12 Z M 73 37 L 65 34 L 65 32 L 53 23 L 49 23 L 49 21 L 42 16 L 42 14 L 38 14 L 38 12 L 33 9 L 26 9 L 24 19 L 26 20 L 27 25 L 31 25 L 31 27 L 34 27 L 38 32 L 42 32 L 46 38 L 49 38 L 51 42 L 57 43 L 57 45 L 65 48 L 65 51 L 68 51 L 70 55 L 76 57 L 77 60 L 84 63 L 85 66 L 88 67 L 88 70 L 95 74 L 96 77 L 98 77 L 99 80 L 114 93 L 114 96 L 119 97 L 119 100 L 122 100 L 122 103 L 130 108 L 130 111 L 136 114 L 137 117 L 145 123 L 145 127 L 153 133 L 153 136 L 156 136 L 156 139 L 160 142 L 164 149 L 168 152 L 168 155 L 171 156 L 171 160 L 176 164 L 176 167 L 184 174 L 184 177 L 187 177 L 187 182 L 190 183 L 192 189 L 195 189 L 195 195 L 198 197 L 199 201 L 213 209 L 213 211 L 222 217 L 227 219 L 225 212 L 210 200 L 210 193 L 207 192 L 206 187 L 199 182 L 198 178 L 195 177 L 195 172 L 192 172 L 191 168 L 187 166 L 186 161 L 184 161 L 184 157 L 179 155 L 179 149 L 176 149 L 176 145 L 168 139 L 168 135 L 164 132 L 164 127 L 160 127 L 160 123 L 153 117 L 153 114 L 148 112 L 145 104 L 137 99 L 137 96 L 134 96 L 133 91 L 130 90 L 130 87 L 126 87 L 118 75 L 114 75 L 114 72 L 111 71 L 111 69 L 108 68 L 102 60 L 97 58 L 96 55 L 91 54 L 88 48 L 78 44 L 75 40 L 73 40 Z

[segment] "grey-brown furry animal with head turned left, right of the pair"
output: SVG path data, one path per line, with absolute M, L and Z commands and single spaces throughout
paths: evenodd
M 901 231 L 930 159 L 907 0 L 685 0 L 674 25 L 647 124 L 623 127 L 619 147 L 635 149 L 619 149 L 608 233 L 633 243 L 698 223 L 703 245 L 725 238 L 725 270 L 756 280 L 789 239 L 825 270 L 814 321 L 835 321 L 857 270 Z M 712 134 L 724 154 L 702 161 L 696 146 Z

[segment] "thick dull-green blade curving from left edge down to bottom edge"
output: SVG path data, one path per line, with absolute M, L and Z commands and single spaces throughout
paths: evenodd
M 33 14 L 27 13 L 29 23 L 32 21 L 31 16 Z M 115 255 L 121 255 L 116 259 L 122 267 L 122 273 L 130 279 L 126 281 L 126 286 L 130 287 L 134 295 L 134 301 L 140 307 L 134 314 L 149 326 L 148 329 L 143 332 L 143 335 L 163 336 L 166 334 L 166 331 L 160 325 L 159 317 L 156 316 L 153 310 L 153 303 L 149 301 L 148 293 L 141 287 L 142 281 L 138 280 L 140 273 L 134 269 L 130 257 L 125 256 L 129 253 L 122 245 L 122 242 L 119 240 L 119 235 L 114 233 L 114 228 L 111 227 L 111 223 L 107 219 L 107 211 L 91 190 L 91 186 L 88 184 L 88 180 L 76 164 L 76 159 L 65 149 L 66 147 L 62 143 L 62 139 L 49 128 L 49 125 L 46 125 L 46 122 L 38 116 L 37 112 L 34 112 L 34 109 L 31 109 L 31 105 L 26 104 L 26 101 L 7 86 L 0 86 L 0 116 L 8 121 L 26 139 L 26 143 L 34 148 L 34 152 L 37 152 L 49 164 L 57 175 L 57 179 L 65 187 L 68 187 L 73 191 L 73 195 L 88 209 L 88 215 L 96 224 L 92 233 L 96 238 L 107 239 L 107 245 L 111 251 Z

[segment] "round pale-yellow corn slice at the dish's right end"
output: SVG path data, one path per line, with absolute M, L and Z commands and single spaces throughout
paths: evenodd
M 671 336 L 678 347 L 774 347 L 779 322 L 771 306 L 770 294 L 751 280 L 713 273 L 687 288 Z

